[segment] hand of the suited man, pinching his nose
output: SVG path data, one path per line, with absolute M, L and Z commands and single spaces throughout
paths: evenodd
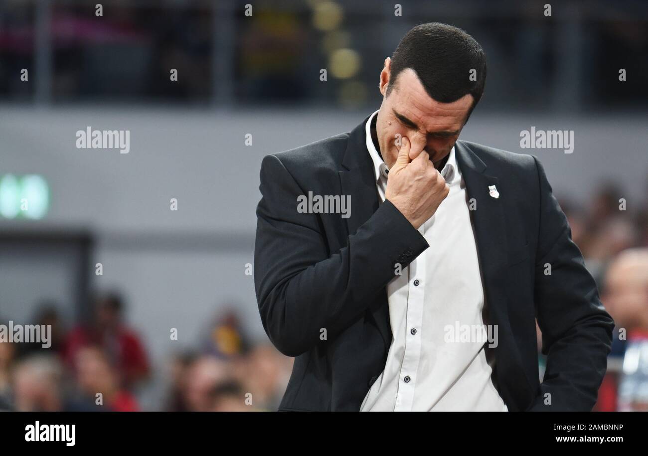
M 385 199 L 419 229 L 434 215 L 449 192 L 450 187 L 427 152 L 422 151 L 410 161 L 410 140 L 403 137 L 399 157 L 389 170 Z

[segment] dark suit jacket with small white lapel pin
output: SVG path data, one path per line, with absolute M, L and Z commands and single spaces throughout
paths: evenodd
M 389 201 L 379 205 L 367 119 L 351 133 L 268 155 L 261 165 L 257 301 L 272 343 L 295 357 L 279 410 L 360 409 L 392 340 L 386 285 L 395 264 L 405 268 L 434 249 Z M 500 395 L 510 411 L 591 410 L 614 322 L 542 165 L 532 155 L 467 141 L 457 141 L 455 152 L 476 201 L 484 291 L 490 323 L 499 325 Z M 309 191 L 350 195 L 351 216 L 299 213 L 297 197 Z M 536 318 L 548 355 L 541 384 Z

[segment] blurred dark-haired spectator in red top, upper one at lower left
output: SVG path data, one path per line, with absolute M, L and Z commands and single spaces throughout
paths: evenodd
M 77 352 L 88 345 L 102 347 L 121 374 L 126 387 L 148 377 L 148 358 L 139 337 L 122 322 L 121 298 L 110 293 L 95 299 L 94 317 L 88 325 L 75 328 L 65 343 L 65 361 L 75 366 Z

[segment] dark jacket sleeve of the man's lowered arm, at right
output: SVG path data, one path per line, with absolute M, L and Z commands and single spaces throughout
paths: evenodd
M 533 158 L 540 182 L 535 305 L 547 365 L 530 410 L 591 411 L 607 369 L 614 321 L 572 241 L 544 168 Z

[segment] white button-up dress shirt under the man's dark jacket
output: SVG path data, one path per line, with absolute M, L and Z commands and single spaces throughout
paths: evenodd
M 382 202 L 388 168 L 371 139 L 377 112 L 365 130 Z M 448 339 L 448 326 L 483 327 L 487 312 L 469 201 L 454 147 L 441 175 L 450 193 L 419 228 L 430 247 L 387 286 L 393 339 L 384 371 L 360 411 L 507 411 L 491 378 L 493 357 L 489 353 L 489 363 L 487 343 Z

